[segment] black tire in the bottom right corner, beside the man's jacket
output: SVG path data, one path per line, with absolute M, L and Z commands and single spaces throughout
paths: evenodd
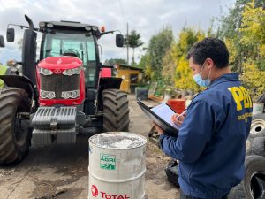
M 245 160 L 244 180 L 232 188 L 229 199 L 264 199 L 265 198 L 265 157 L 248 156 Z

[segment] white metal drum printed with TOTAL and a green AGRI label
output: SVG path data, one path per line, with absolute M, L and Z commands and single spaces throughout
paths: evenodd
M 110 132 L 89 139 L 89 199 L 143 199 L 145 149 L 139 134 Z

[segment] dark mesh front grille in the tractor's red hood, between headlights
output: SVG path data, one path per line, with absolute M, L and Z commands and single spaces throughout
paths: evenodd
M 43 75 L 40 73 L 41 90 L 55 92 L 55 99 L 64 99 L 62 92 L 79 90 L 79 74 L 71 76 L 64 74 Z

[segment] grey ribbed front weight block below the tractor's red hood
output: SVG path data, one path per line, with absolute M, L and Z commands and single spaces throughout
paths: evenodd
M 75 143 L 76 107 L 40 107 L 32 119 L 32 144 Z

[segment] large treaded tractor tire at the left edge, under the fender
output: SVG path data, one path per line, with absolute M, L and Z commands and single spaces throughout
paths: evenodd
M 24 89 L 0 89 L 0 165 L 13 165 L 27 156 L 29 123 L 19 119 L 18 113 L 29 112 L 30 102 Z

